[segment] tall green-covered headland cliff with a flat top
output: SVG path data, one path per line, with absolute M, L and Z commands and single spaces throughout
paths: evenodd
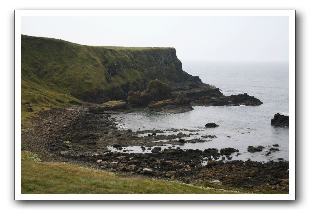
M 128 91 L 142 92 L 154 79 L 172 91 L 206 86 L 182 70 L 175 48 L 86 46 L 21 35 L 22 101 L 46 106 L 126 100 Z

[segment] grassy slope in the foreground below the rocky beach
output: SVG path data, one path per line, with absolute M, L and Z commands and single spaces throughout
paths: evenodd
M 22 194 L 219 194 L 176 182 L 129 178 L 88 167 L 40 162 L 34 153 L 21 152 Z

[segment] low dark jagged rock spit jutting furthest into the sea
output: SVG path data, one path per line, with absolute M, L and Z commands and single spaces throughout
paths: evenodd
M 238 94 L 238 95 L 230 95 L 223 96 L 219 98 L 215 97 L 201 97 L 195 101 L 192 101 L 192 106 L 259 106 L 262 102 L 255 98 L 254 96 L 250 96 L 246 93 Z

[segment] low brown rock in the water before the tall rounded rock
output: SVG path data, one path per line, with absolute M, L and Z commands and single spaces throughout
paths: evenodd
M 179 93 L 176 99 L 166 99 L 157 102 L 153 101 L 148 104 L 148 109 L 163 113 L 182 113 L 191 111 L 194 108 L 190 105 L 190 100 L 185 99 L 184 96 Z

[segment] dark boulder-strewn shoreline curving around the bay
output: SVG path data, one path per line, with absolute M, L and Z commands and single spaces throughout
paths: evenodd
M 74 163 L 136 177 L 179 180 L 184 183 L 216 181 L 246 189 L 289 190 L 287 161 L 226 162 L 231 155 L 238 155 L 238 148 L 183 150 L 178 147 L 209 141 L 216 136 L 184 141 L 195 130 L 185 134 L 182 129 L 171 129 L 175 134 L 163 135 L 163 130 L 135 132 L 118 129 L 116 117 L 92 114 L 88 111 L 89 107 L 84 103 L 39 113 L 32 120 L 36 126 L 22 126 L 22 149 L 42 155 L 43 161 Z M 171 146 L 163 149 L 162 145 L 166 144 Z M 127 150 L 129 146 L 152 151 L 132 153 Z M 207 164 L 202 165 L 202 161 L 207 161 Z

